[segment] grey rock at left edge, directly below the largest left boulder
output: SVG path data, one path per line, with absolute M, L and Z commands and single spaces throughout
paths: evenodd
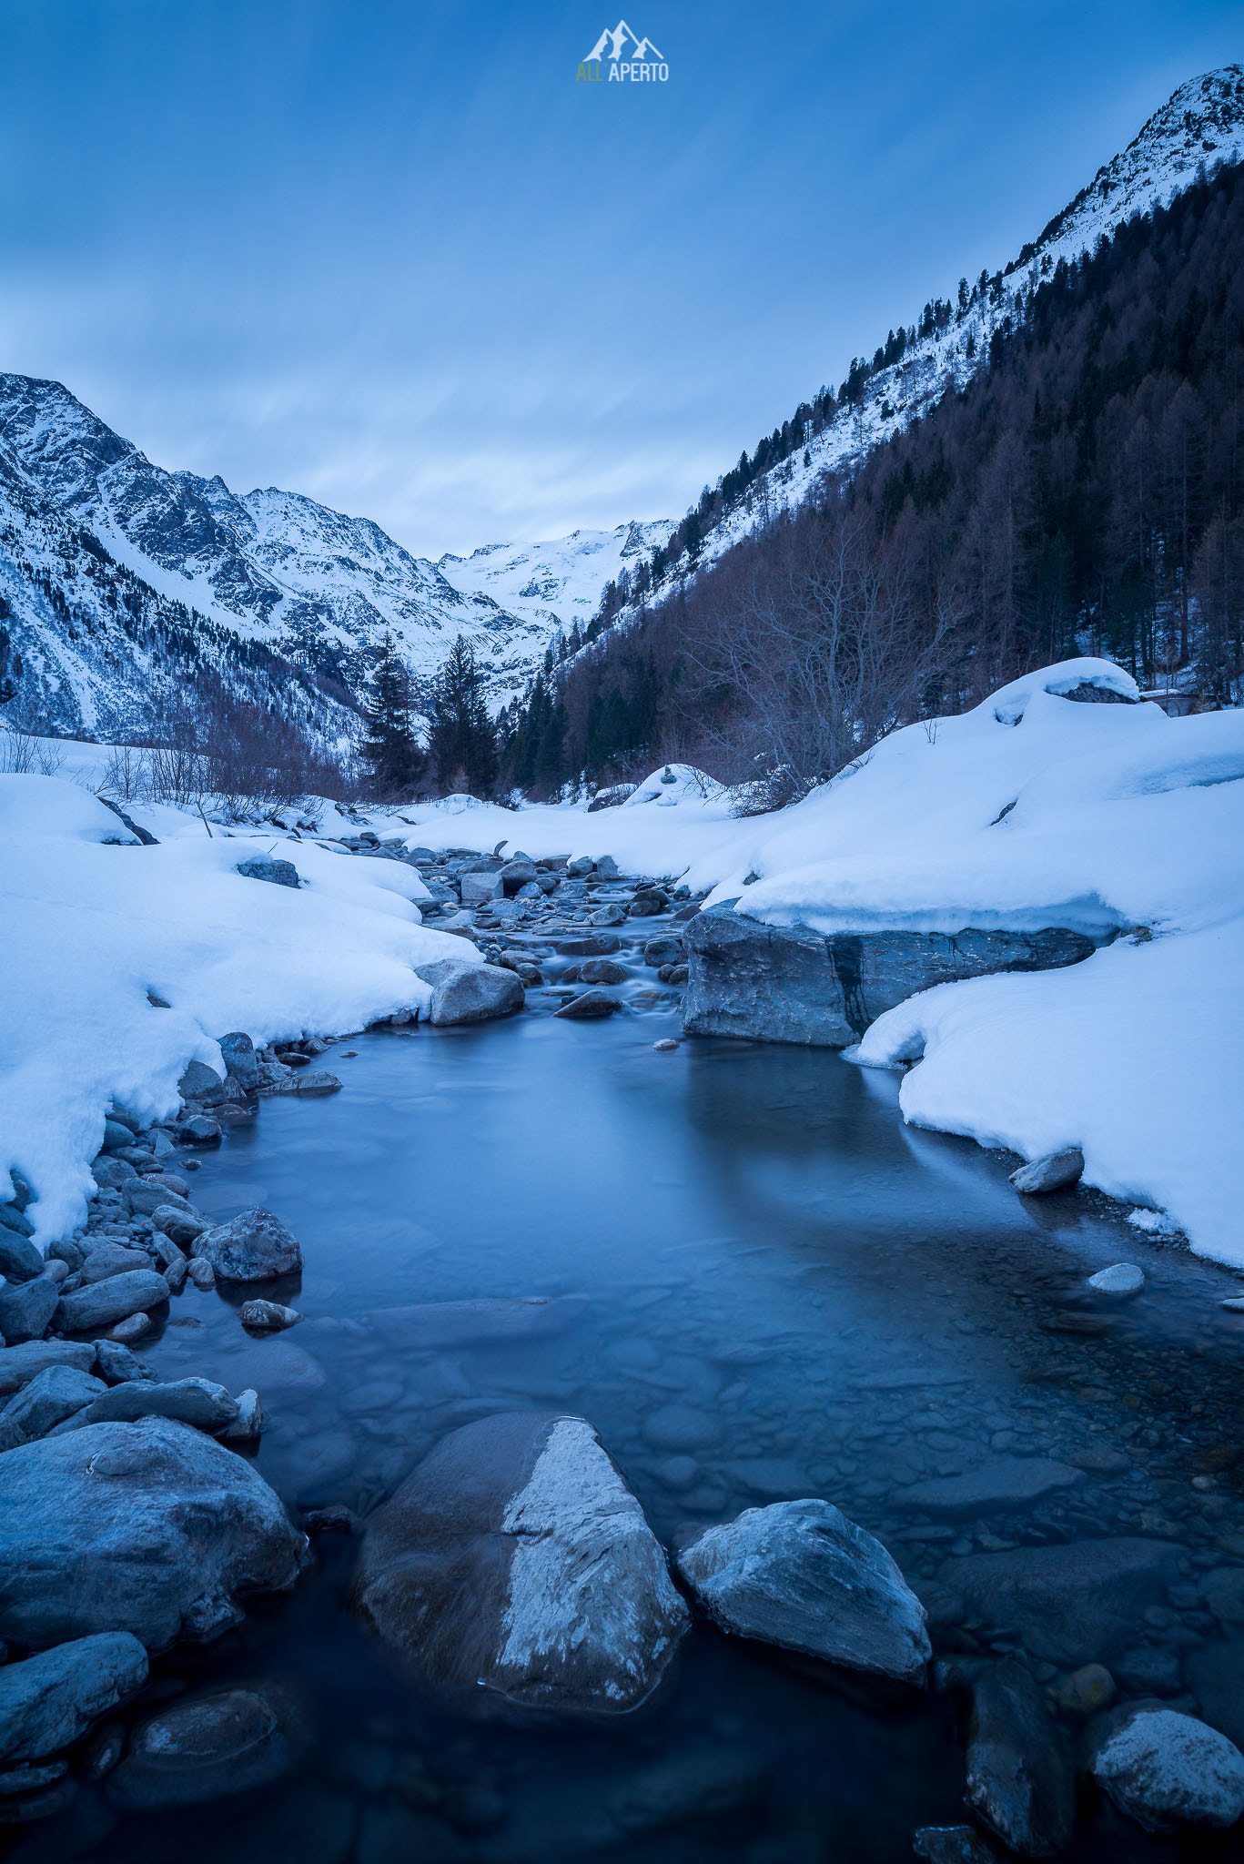
M 0 1668 L 0 1760 L 58 1754 L 147 1681 L 147 1653 L 129 1631 L 101 1631 Z

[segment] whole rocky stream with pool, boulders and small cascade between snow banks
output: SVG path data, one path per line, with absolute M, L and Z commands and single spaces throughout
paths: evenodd
M 477 859 L 522 1016 L 239 1033 L 47 1269 L 9 1206 L 13 1855 L 1235 1855 L 1231 1279 Z

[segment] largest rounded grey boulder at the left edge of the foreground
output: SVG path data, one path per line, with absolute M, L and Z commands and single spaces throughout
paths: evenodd
M 252 1465 L 187 1424 L 90 1424 L 0 1456 L 0 1638 L 132 1631 L 147 1650 L 293 1586 L 304 1538 Z

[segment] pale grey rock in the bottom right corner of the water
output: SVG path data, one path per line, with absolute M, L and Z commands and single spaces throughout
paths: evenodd
M 1089 1728 L 1087 1747 L 1097 1784 L 1149 1832 L 1225 1830 L 1244 1814 L 1244 1754 L 1192 1715 L 1128 1704 Z

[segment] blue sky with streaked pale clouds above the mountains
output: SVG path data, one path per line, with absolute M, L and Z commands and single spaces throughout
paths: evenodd
M 0 0 L 0 369 L 438 555 L 677 516 L 1244 4 Z

